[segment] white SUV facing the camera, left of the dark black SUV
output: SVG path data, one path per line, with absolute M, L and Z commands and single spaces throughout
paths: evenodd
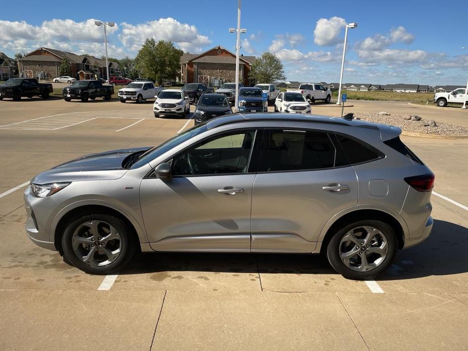
M 159 93 L 153 105 L 154 117 L 175 114 L 185 117 L 190 112 L 190 100 L 184 90 L 165 89 Z

